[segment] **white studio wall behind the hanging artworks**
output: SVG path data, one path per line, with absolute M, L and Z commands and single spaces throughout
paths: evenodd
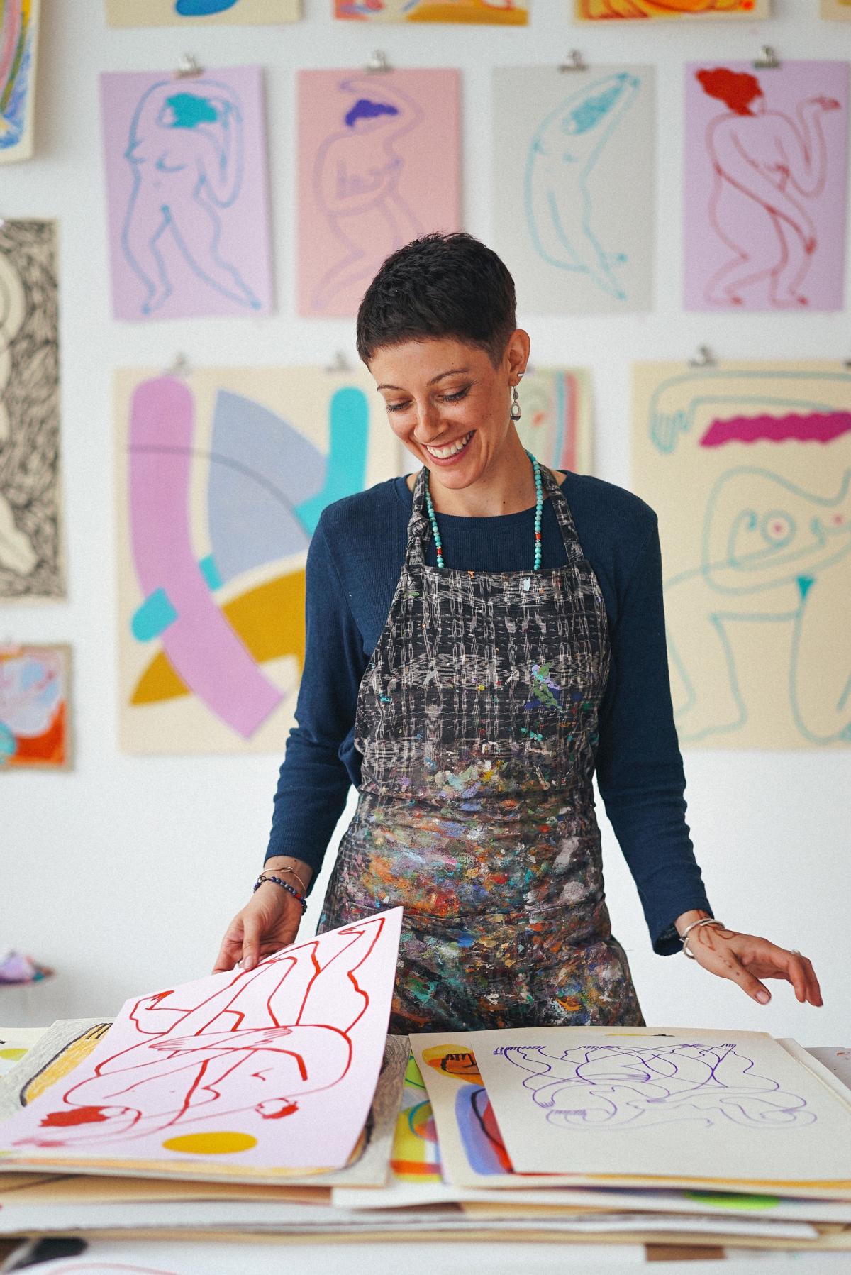
M 325 362 L 352 348 L 348 321 L 302 321 L 293 307 L 294 70 L 361 64 L 380 43 L 400 66 L 464 70 L 466 228 L 492 229 L 489 68 L 548 64 L 578 45 L 591 62 L 659 68 L 656 303 L 646 316 L 535 319 L 534 357 L 594 368 L 597 473 L 628 483 L 628 380 L 633 358 L 851 354 L 843 315 L 683 314 L 680 278 L 682 64 L 749 57 L 763 42 L 795 57 L 851 56 L 851 28 L 819 22 L 814 0 L 775 0 L 766 23 L 568 26 L 567 0 L 533 0 L 527 31 L 415 26 L 380 36 L 333 23 L 330 0 L 304 0 L 292 27 L 195 28 L 205 66 L 266 68 L 279 314 L 129 325 L 110 317 L 97 75 L 175 66 L 187 43 L 169 29 L 107 31 L 101 0 L 43 0 L 38 152 L 0 168 L 0 215 L 61 224 L 62 439 L 68 603 L 4 607 L 0 640 L 70 640 L 76 669 L 76 769 L 0 779 L 0 946 L 55 965 L 32 989 L 0 988 L 0 1023 L 115 1012 L 135 992 L 209 969 L 220 931 L 246 898 L 265 848 L 279 759 L 134 759 L 116 746 L 111 374 L 118 365 Z M 648 228 L 648 233 L 654 233 Z M 522 292 L 522 280 L 520 280 Z M 851 295 L 851 279 L 846 287 Z M 526 298 L 530 301 L 531 298 Z M 837 640 L 847 640 L 847 634 Z M 682 956 L 650 950 L 637 896 L 606 829 L 615 932 L 647 1020 L 764 1029 L 805 1044 L 851 1044 L 848 759 L 838 752 L 693 752 L 690 821 L 717 914 L 810 955 L 826 1007 L 786 987 L 761 1009 Z M 310 923 L 317 912 L 308 913 Z

